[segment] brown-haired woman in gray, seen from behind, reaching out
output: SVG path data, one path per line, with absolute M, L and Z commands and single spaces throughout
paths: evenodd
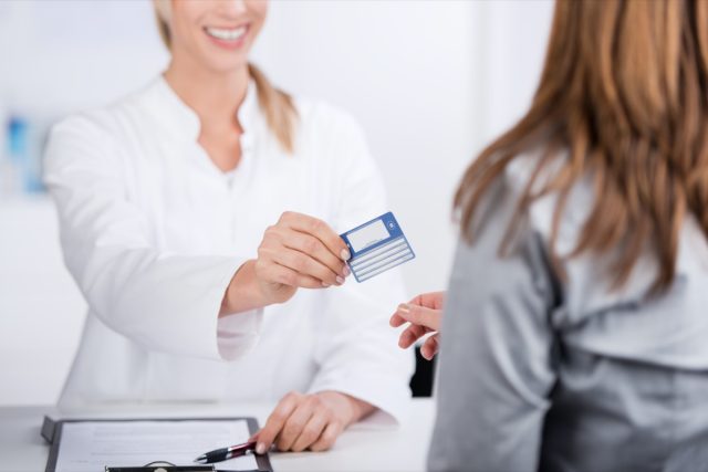
M 708 2 L 558 1 L 456 208 L 430 470 L 708 470 Z

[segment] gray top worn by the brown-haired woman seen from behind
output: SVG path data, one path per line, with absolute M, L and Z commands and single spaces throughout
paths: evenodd
M 612 254 L 549 264 L 554 197 L 498 247 L 529 175 L 514 162 L 488 196 L 473 245 L 460 243 L 441 328 L 433 471 L 708 471 L 708 244 L 693 219 L 677 277 L 647 297 L 644 254 L 611 291 Z M 593 199 L 571 193 L 558 249 L 569 253 Z M 621 249 L 617 249 L 620 251 Z

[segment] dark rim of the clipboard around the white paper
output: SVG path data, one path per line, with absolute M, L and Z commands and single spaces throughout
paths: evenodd
M 46 442 L 51 444 L 49 458 L 46 460 L 45 472 L 55 472 L 56 459 L 59 457 L 59 448 L 62 440 L 62 429 L 66 423 L 72 422 L 129 422 L 129 421 L 246 421 L 250 434 L 258 432 L 258 420 L 253 417 L 230 417 L 230 418 L 127 418 L 127 419 L 103 419 L 103 418 L 84 418 L 84 419 L 61 419 L 54 420 L 48 416 L 42 422 L 41 434 Z M 225 444 L 228 445 L 228 444 Z M 256 455 L 257 471 L 240 472 L 273 472 L 268 453 Z

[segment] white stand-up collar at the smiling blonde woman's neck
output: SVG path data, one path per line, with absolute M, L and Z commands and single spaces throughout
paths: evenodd
M 179 139 L 196 141 L 199 138 L 201 124 L 199 116 L 179 98 L 162 75 L 147 88 L 144 101 L 149 112 L 157 118 L 162 128 Z M 249 81 L 246 97 L 237 112 L 237 118 L 243 133 L 241 140 L 251 141 L 250 133 L 258 115 L 258 97 L 256 83 Z

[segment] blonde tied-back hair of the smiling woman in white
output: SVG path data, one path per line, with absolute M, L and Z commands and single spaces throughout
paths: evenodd
M 165 46 L 171 49 L 171 33 L 169 19 L 171 17 L 170 0 L 154 0 L 157 30 Z M 298 109 L 290 94 L 274 87 L 266 74 L 256 65 L 249 63 L 248 72 L 256 83 L 258 104 L 266 114 L 268 127 L 275 135 L 282 148 L 292 154 L 295 147 L 295 126 Z

